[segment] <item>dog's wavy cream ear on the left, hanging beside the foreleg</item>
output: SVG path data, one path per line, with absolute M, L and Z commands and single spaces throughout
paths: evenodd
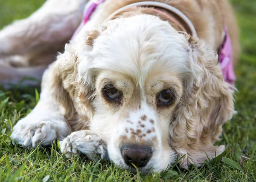
M 82 32 L 78 35 L 78 41 L 66 44 L 64 54 L 58 56 L 62 84 L 75 102 L 76 117 L 70 122 L 74 130 L 85 129 L 94 114 L 92 100 L 96 75 L 95 71 L 90 69 L 90 51 L 104 29 L 105 27 L 100 26 L 98 30 L 85 31 L 85 34 Z

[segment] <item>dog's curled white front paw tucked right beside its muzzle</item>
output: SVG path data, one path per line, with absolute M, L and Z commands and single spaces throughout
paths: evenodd
M 105 149 L 102 145 L 102 140 L 97 134 L 81 130 L 71 133 L 67 138 L 60 142 L 61 152 L 67 158 L 71 156 L 79 156 L 81 153 L 85 154 L 90 160 L 98 160 L 96 154 L 104 159 Z

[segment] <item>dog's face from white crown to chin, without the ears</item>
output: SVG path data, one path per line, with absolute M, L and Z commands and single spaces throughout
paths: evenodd
M 92 65 L 98 75 L 90 129 L 105 140 L 117 165 L 159 171 L 177 159 L 169 127 L 183 94 L 186 39 L 156 17 L 137 18 L 117 20 L 87 57 L 101 67 Z M 134 20 L 137 25 L 127 27 Z

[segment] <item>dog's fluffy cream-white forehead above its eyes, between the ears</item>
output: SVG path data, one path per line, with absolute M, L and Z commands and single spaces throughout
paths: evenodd
M 182 73 L 189 60 L 186 39 L 168 23 L 151 16 L 118 20 L 94 43 L 91 52 L 95 68 L 119 71 L 132 77 L 150 72 Z M 149 21 L 151 20 L 151 21 Z M 138 78 L 139 79 L 139 78 Z

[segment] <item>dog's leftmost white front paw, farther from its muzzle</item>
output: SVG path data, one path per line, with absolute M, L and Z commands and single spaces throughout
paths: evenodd
M 40 142 L 42 146 L 51 145 L 56 138 L 63 139 L 68 134 L 70 134 L 70 128 L 63 121 L 29 122 L 25 118 L 14 126 L 11 138 L 15 139 L 20 145 L 35 148 Z

